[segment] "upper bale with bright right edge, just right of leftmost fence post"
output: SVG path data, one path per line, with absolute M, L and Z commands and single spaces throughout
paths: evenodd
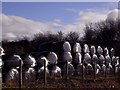
M 23 63 L 25 66 L 34 67 L 36 65 L 36 60 L 34 57 L 28 55 L 25 57 L 25 60 L 23 60 Z

